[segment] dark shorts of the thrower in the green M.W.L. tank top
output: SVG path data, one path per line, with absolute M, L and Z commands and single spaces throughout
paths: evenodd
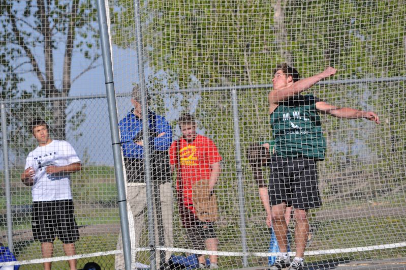
M 282 158 L 273 156 L 269 177 L 270 204 L 286 202 L 295 209 L 311 209 L 321 206 L 314 159 Z

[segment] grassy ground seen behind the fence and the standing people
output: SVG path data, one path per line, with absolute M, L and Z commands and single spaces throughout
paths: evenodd
M 19 180 L 20 170 L 13 170 L 11 174 L 12 187 L 12 209 L 13 209 L 13 232 L 16 238 L 21 232 L 30 231 L 29 205 L 32 198 L 30 188 L 23 186 Z M 257 192 L 252 188 L 253 192 Z M 117 228 L 119 226 L 119 213 L 116 203 L 116 184 L 114 180 L 114 169 L 108 166 L 84 167 L 72 177 L 72 192 L 75 202 L 77 223 L 87 228 L 88 233 L 81 235 L 80 241 L 76 244 L 78 254 L 88 254 L 100 251 L 111 251 L 116 249 Z M 251 191 L 250 191 L 251 192 Z M 219 192 L 217 196 L 222 199 Z M 257 195 L 256 195 L 257 196 Z M 227 197 L 229 198 L 229 197 Z M 406 218 L 399 213 L 391 212 L 393 205 L 404 205 L 404 192 L 396 194 L 385 193 L 376 197 L 373 201 L 344 201 L 339 205 L 326 203 L 321 209 L 312 211 L 309 215 L 310 223 L 314 228 L 311 250 L 326 250 L 348 247 L 361 247 L 406 241 L 405 227 Z M 250 198 L 246 204 L 247 213 L 247 237 L 248 251 L 264 252 L 268 250 L 269 230 L 265 226 L 265 214 L 259 200 Z M 230 252 L 241 251 L 240 228 L 238 224 L 238 210 L 236 208 L 224 208 L 225 219 L 218 223 L 217 235 L 220 239 L 220 250 Z M 392 209 L 392 210 L 391 210 Z M 354 211 L 367 213 L 360 218 L 348 218 L 348 213 Z M 3 235 L 7 233 L 6 227 L 6 198 L 0 198 L 0 228 Z M 233 212 L 234 211 L 234 212 Z M 179 227 L 179 220 L 175 213 L 175 247 L 187 248 L 187 241 L 184 236 L 184 229 Z M 106 228 L 100 231 L 91 231 L 91 228 L 106 225 L 114 227 L 114 233 Z M 90 233 L 89 233 L 90 232 Z M 21 236 L 22 237 L 22 236 Z M 143 236 L 147 243 L 146 234 Z M 6 238 L 4 237 L 4 241 Z M 41 258 L 40 244 L 32 239 L 19 239 L 15 241 L 15 253 L 18 260 L 30 260 Z M 149 264 L 148 252 L 144 252 L 145 260 L 140 262 Z M 179 253 L 176 253 L 178 255 Z M 54 256 L 64 256 L 60 241 L 55 242 Z M 406 257 L 406 249 L 396 248 L 379 251 L 345 253 L 334 255 L 308 256 L 308 262 L 322 260 L 354 260 L 354 259 L 386 259 Z M 96 261 L 103 269 L 113 269 L 114 256 L 102 256 L 95 258 L 84 258 L 78 260 L 78 267 L 82 267 L 88 261 Z M 250 266 L 266 265 L 267 258 L 248 256 Z M 230 266 L 232 265 L 232 266 Z M 233 269 L 242 267 L 241 257 L 221 257 L 220 266 L 222 269 Z M 54 262 L 55 269 L 66 269 L 67 262 Z M 42 269 L 42 264 L 22 265 L 20 269 Z

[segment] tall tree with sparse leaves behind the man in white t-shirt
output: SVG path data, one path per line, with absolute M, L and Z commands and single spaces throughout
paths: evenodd
M 2 53 L 12 55 L 17 76 L 32 74 L 37 81 L 30 89 L 9 89 L 8 96 L 68 97 L 72 83 L 86 71 L 95 68 L 100 57 L 96 4 L 92 0 L 2 0 L 0 23 Z M 55 61 L 55 51 L 65 47 L 63 61 Z M 72 78 L 72 56 L 75 48 L 88 61 L 88 66 Z M 41 53 L 39 52 L 41 50 Z M 58 67 L 61 65 L 61 68 Z M 62 70 L 61 82 L 56 70 Z M 36 89 L 38 88 L 38 91 Z M 42 103 L 51 112 L 51 129 L 55 139 L 65 139 L 67 101 Z

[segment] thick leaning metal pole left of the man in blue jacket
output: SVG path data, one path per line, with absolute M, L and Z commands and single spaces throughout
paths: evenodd
M 120 135 L 118 132 L 117 105 L 114 92 L 113 67 L 111 63 L 111 51 L 110 51 L 110 40 L 108 35 L 106 7 L 104 0 L 97 0 L 97 5 L 98 5 L 97 13 L 99 16 L 100 40 L 102 45 L 103 69 L 106 81 L 105 84 L 106 84 L 107 104 L 109 110 L 110 133 L 113 147 L 113 158 L 115 168 L 114 172 L 118 193 L 117 194 L 118 209 L 120 212 L 120 225 L 121 225 L 122 247 L 124 253 L 124 264 L 126 266 L 126 269 L 131 269 L 130 229 L 127 215 L 127 199 L 126 199 L 126 188 L 124 186 L 124 173 L 121 158 Z

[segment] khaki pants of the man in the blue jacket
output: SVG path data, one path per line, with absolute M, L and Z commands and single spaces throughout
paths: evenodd
M 160 185 L 160 198 L 161 198 L 161 210 L 162 210 L 162 222 L 164 232 L 160 232 L 165 238 L 165 247 L 173 247 L 173 196 L 172 196 L 172 184 L 167 182 Z M 154 203 L 154 202 L 153 202 Z M 139 248 L 141 234 L 147 229 L 145 224 L 145 217 L 147 213 L 146 208 L 146 188 L 145 184 L 138 183 L 128 183 L 127 184 L 127 207 L 129 212 L 129 219 L 133 219 L 134 222 L 134 236 L 131 239 L 131 248 Z M 131 213 L 131 216 L 130 216 Z M 155 245 L 158 246 L 158 226 L 156 215 L 154 216 L 155 224 Z M 132 222 L 130 222 L 131 224 Z M 130 228 L 131 236 L 132 228 Z M 145 243 L 143 247 L 148 247 L 148 243 Z M 118 235 L 117 249 L 122 249 L 122 238 L 121 231 Z M 157 251 L 157 266 L 159 266 L 159 251 Z M 134 264 L 137 260 L 136 252 L 132 251 L 132 263 Z M 165 252 L 165 259 L 168 261 L 171 257 L 171 252 Z M 125 269 L 124 267 L 124 256 L 122 253 L 116 254 L 115 269 Z

